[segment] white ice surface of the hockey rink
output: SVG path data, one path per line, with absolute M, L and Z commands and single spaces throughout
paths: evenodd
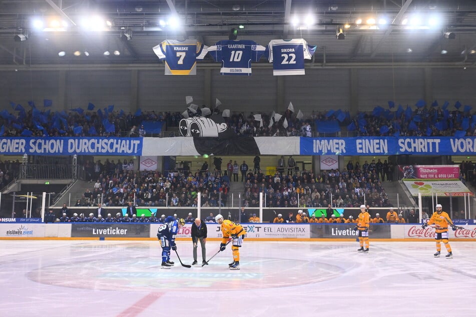
M 207 241 L 207 259 L 219 247 Z M 158 241 L 3 240 L 1 316 L 470 316 L 476 242 L 244 241 L 161 269 Z M 191 264 L 192 242 L 177 242 Z M 200 249 L 200 247 L 199 247 Z M 201 252 L 199 263 L 201 263 Z

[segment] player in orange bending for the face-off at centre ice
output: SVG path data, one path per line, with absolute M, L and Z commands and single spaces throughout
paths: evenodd
M 233 239 L 232 251 L 233 251 L 233 262 L 228 264 L 230 269 L 240 269 L 240 251 L 241 243 L 245 237 L 245 229 L 239 223 L 235 223 L 231 220 L 224 220 L 221 214 L 215 216 L 215 221 L 218 224 L 221 224 L 221 231 L 223 232 L 223 238 L 220 243 L 220 251 L 224 251 L 226 248 L 226 243 L 231 237 Z

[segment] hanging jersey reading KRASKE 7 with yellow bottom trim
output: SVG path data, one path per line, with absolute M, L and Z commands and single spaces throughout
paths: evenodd
M 195 39 L 164 40 L 154 46 L 154 53 L 165 59 L 166 75 L 196 75 L 197 59 L 207 54 L 207 46 Z

